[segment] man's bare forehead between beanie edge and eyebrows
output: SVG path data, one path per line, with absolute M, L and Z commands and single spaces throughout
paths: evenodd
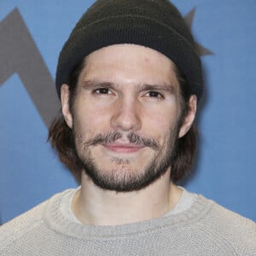
M 137 44 L 114 44 L 92 52 L 85 58 L 79 80 L 178 87 L 175 64 L 166 55 Z

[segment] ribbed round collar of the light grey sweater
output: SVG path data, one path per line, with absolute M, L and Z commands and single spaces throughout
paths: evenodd
M 66 236 L 86 240 L 127 239 L 127 236 L 145 236 L 148 232 L 165 229 L 180 229 L 182 226 L 193 224 L 202 218 L 212 207 L 212 201 L 199 195 L 191 207 L 185 212 L 155 218 L 134 224 L 116 226 L 84 225 L 70 221 L 61 212 L 61 198 L 70 190 L 54 195 L 44 208 L 44 222 L 49 229 Z

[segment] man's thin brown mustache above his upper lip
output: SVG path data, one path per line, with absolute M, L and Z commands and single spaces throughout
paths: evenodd
M 123 134 L 119 131 L 112 131 L 106 134 L 101 133 L 84 142 L 84 146 L 96 146 L 98 144 L 114 143 L 121 137 L 123 137 Z M 129 143 L 153 148 L 154 150 L 159 150 L 160 148 L 159 144 L 153 138 L 142 137 L 134 132 L 129 133 L 127 135 L 127 138 L 129 140 Z

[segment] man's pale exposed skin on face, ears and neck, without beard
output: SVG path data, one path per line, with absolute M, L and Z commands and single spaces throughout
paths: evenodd
M 154 49 L 118 44 L 98 49 L 86 57 L 79 76 L 73 113 L 68 105 L 67 84 L 61 86 L 62 113 L 76 130 L 79 157 L 95 160 L 102 175 L 117 181 L 142 175 L 159 153 L 151 147 L 130 143 L 133 132 L 152 138 L 162 151 L 177 125 L 179 84 L 174 64 Z M 195 119 L 196 97 L 177 131 L 183 137 Z M 111 143 L 86 144 L 97 134 L 119 131 Z M 170 183 L 171 166 L 143 189 L 116 192 L 97 186 L 82 172 L 81 189 L 73 199 L 73 212 L 83 224 L 116 225 L 159 218 L 177 204 L 182 191 Z

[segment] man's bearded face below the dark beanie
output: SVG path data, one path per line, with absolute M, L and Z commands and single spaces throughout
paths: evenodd
M 102 189 L 131 191 L 165 173 L 179 133 L 178 95 L 172 61 L 153 49 L 119 44 L 88 55 L 73 113 L 63 112 L 87 176 Z

